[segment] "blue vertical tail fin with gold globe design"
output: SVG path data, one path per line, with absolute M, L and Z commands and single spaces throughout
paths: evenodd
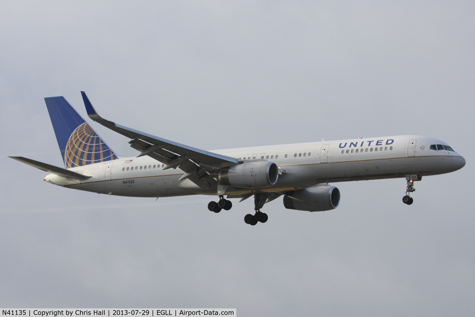
M 66 168 L 117 159 L 63 96 L 45 98 Z

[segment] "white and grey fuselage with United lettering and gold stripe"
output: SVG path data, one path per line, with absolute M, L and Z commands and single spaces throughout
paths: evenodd
M 226 195 L 282 192 L 318 183 L 398 178 L 408 174 L 428 176 L 456 171 L 464 158 L 453 151 L 432 150 L 430 145 L 446 143 L 425 136 L 403 135 L 379 138 L 283 144 L 210 151 L 237 159 L 268 160 L 284 172 L 277 183 L 264 189 L 229 187 Z M 163 170 L 162 163 L 148 156 L 120 158 L 70 170 L 92 176 L 85 181 L 54 174 L 49 183 L 104 194 L 162 197 L 193 194 L 216 195 L 188 179 L 179 181 L 183 171 Z M 131 170 L 133 167 L 133 170 Z

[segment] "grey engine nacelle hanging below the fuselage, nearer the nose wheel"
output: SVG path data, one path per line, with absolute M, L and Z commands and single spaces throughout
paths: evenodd
M 284 206 L 287 209 L 325 211 L 335 209 L 339 204 L 340 191 L 335 186 L 317 185 L 284 196 Z

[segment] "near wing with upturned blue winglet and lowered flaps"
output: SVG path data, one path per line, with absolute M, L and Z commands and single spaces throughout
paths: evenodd
M 81 95 L 83 96 L 87 115 L 92 120 L 131 138 L 130 146 L 141 152 L 137 157 L 148 155 L 166 164 L 163 169 L 180 167 L 185 172 L 180 180 L 188 178 L 203 190 L 209 190 L 211 186 L 217 184 L 217 180 L 213 175 L 215 172 L 223 167 L 237 164 L 237 160 L 233 157 L 200 150 L 123 125 L 117 125 L 97 114 L 84 91 L 81 91 Z

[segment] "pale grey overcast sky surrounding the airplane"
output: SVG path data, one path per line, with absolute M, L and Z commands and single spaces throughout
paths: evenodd
M 474 316 L 474 1 L 1 1 L 0 306 L 236 307 L 239 316 Z M 337 183 L 333 211 L 97 195 L 63 164 L 43 98 L 212 150 L 398 134 L 467 161 Z M 128 139 L 95 123 L 119 154 Z

